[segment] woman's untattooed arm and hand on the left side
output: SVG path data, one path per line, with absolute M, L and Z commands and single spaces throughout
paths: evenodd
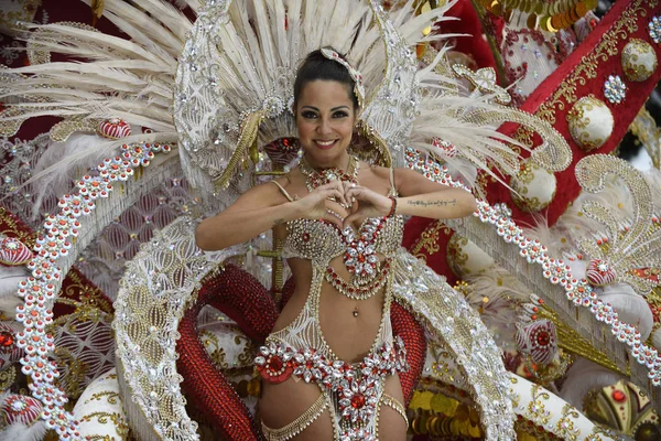
M 250 240 L 277 225 L 297 218 L 325 218 L 327 197 L 344 200 L 342 183 L 321 185 L 305 197 L 289 202 L 272 183 L 258 185 L 242 194 L 230 207 L 204 219 L 195 230 L 195 243 L 204 250 L 217 250 Z

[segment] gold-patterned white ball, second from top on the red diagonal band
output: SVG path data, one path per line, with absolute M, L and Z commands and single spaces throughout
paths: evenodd
M 615 119 L 604 101 L 595 97 L 581 98 L 567 112 L 570 133 L 586 152 L 598 149 L 613 135 Z

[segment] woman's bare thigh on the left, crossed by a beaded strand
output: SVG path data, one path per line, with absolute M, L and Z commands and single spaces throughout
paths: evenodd
M 296 381 L 293 377 L 281 384 L 263 381 L 262 396 L 259 400 L 262 422 L 270 429 L 281 429 L 305 413 L 321 394 L 317 385 Z M 296 441 L 332 439 L 333 423 L 328 409 L 325 409 L 300 434 L 292 438 Z

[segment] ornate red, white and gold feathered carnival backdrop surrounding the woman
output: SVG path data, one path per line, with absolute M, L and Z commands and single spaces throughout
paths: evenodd
M 0 440 L 264 439 L 282 244 L 194 230 L 297 164 L 323 45 L 357 155 L 478 198 L 404 226 L 410 439 L 661 440 L 659 0 L 0 4 Z

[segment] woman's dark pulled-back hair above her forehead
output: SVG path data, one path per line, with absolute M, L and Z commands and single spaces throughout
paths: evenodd
M 339 56 L 345 58 L 344 54 L 339 54 Z M 349 75 L 349 71 L 336 61 L 326 58 L 321 50 L 312 51 L 307 54 L 296 72 L 296 79 L 294 80 L 294 107 L 299 103 L 303 86 L 317 79 L 333 80 L 346 85 L 354 103 L 354 108 L 359 107 L 358 97 L 354 93 L 356 82 Z

